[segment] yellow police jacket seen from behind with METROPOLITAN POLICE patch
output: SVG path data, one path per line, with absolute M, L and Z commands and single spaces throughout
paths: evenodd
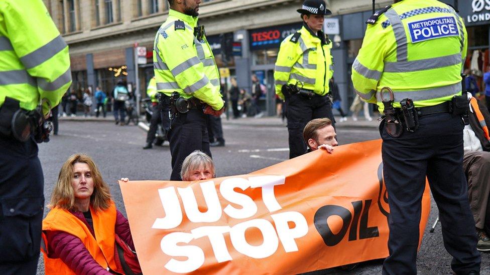
M 368 23 L 352 65 L 354 90 L 364 101 L 377 103 L 383 111 L 383 87 L 393 90 L 396 108 L 405 98 L 415 107 L 426 107 L 461 94 L 467 34 L 451 6 L 436 0 L 404 0 L 373 15 Z

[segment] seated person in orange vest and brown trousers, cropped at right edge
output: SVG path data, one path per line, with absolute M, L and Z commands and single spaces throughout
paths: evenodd
M 485 104 L 470 99 L 469 125 L 463 130 L 463 170 L 468 181 L 468 199 L 475 221 L 476 249 L 490 251 L 490 113 Z M 481 122 L 480 122 L 481 121 Z

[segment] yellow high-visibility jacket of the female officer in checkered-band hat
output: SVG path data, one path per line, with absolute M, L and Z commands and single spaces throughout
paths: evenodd
M 323 33 L 319 33 L 323 36 Z M 326 95 L 333 76 L 332 42 L 325 36 L 324 43 L 305 26 L 281 43 L 276 61 L 274 80 L 276 94 L 284 99 L 281 88 L 298 84 L 299 88 Z

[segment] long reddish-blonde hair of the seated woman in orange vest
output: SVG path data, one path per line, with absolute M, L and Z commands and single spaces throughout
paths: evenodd
M 51 194 L 51 200 L 48 207 L 59 207 L 67 210 L 78 210 L 75 208 L 75 191 L 71 186 L 74 172 L 73 167 L 76 163 L 86 163 L 90 169 L 90 174 L 93 179 L 93 193 L 90 196 L 90 205 L 94 210 L 106 210 L 110 206 L 110 191 L 109 186 L 102 179 L 95 162 L 91 157 L 85 154 L 71 155 L 61 166 L 58 175 L 58 181 Z

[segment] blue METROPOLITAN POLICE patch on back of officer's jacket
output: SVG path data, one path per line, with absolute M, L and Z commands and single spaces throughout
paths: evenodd
M 408 23 L 412 43 L 426 40 L 459 36 L 459 29 L 454 17 L 432 18 Z

